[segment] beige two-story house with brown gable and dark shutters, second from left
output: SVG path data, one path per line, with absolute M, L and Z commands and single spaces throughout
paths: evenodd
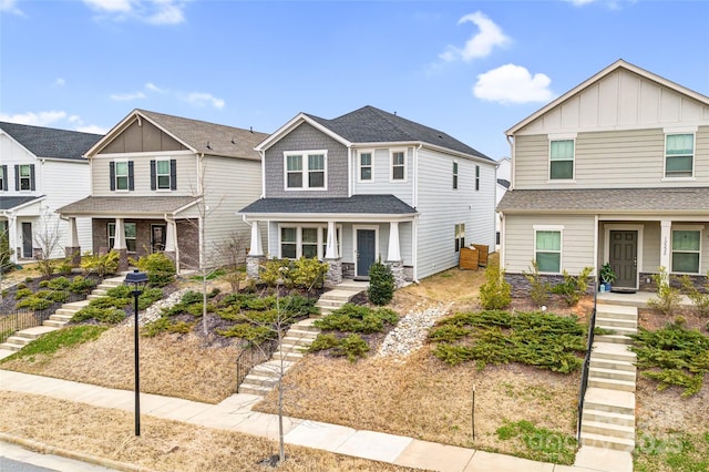
M 91 218 L 94 249 L 116 249 L 122 269 L 155 252 L 178 270 L 228 263 L 239 246 L 243 258 L 248 226 L 236 212 L 260 195 L 254 146 L 267 136 L 134 110 L 86 152 L 90 196 L 59 212 Z

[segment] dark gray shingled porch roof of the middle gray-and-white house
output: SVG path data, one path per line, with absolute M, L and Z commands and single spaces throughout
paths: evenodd
M 261 198 L 239 213 L 414 215 L 417 211 L 393 195 L 353 195 L 339 198 Z

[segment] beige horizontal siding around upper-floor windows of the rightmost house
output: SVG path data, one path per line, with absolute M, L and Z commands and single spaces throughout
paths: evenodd
M 709 126 L 700 126 L 696 133 L 693 181 L 665 179 L 662 129 L 578 133 L 575 141 L 573 182 L 549 181 L 548 173 L 549 137 L 517 136 L 516 189 L 707 186 Z

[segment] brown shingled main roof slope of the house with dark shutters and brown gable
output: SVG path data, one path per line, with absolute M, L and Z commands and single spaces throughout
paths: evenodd
M 254 147 L 268 137 L 267 133 L 253 130 L 189 120 L 147 110 L 136 110 L 136 112 L 154 121 L 198 153 L 259 161 L 260 155 L 254 151 Z

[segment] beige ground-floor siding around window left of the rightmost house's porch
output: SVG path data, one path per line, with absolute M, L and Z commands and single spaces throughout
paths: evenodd
M 594 267 L 596 258 L 595 217 L 590 216 L 521 216 L 505 217 L 505 267 L 510 274 L 532 270 L 534 260 L 534 227 L 562 227 L 562 270 L 577 275 L 584 267 Z

